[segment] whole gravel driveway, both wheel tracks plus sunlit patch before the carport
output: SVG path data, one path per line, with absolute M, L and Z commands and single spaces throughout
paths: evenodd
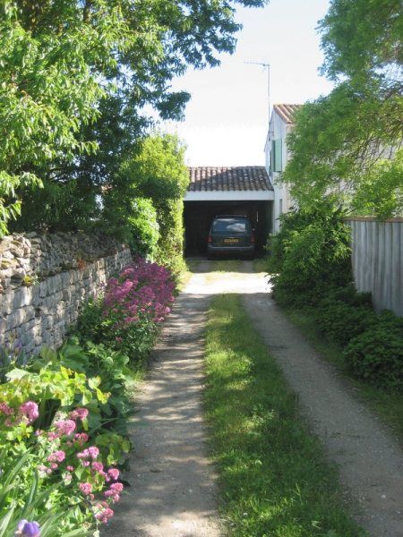
M 103 535 L 218 537 L 215 475 L 201 413 L 202 330 L 212 294 L 239 293 L 302 411 L 340 466 L 373 537 L 403 536 L 403 461 L 399 447 L 271 301 L 262 274 L 244 261 L 236 273 L 202 261 L 176 302 L 130 424 L 132 487 Z M 251 535 L 251 537 L 254 537 Z

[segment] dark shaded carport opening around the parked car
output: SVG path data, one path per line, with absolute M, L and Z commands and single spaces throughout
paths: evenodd
M 243 215 L 253 222 L 257 254 L 262 254 L 271 231 L 272 201 L 184 201 L 186 255 L 205 255 L 214 217 Z

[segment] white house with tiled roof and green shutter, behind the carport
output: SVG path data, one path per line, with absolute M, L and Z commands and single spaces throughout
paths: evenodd
M 270 116 L 269 132 L 264 146 L 266 170 L 274 188 L 272 230 L 279 232 L 279 216 L 292 206 L 287 184 L 279 183 L 279 175 L 285 170 L 289 159 L 287 135 L 293 129 L 293 115 L 302 105 L 274 105 Z

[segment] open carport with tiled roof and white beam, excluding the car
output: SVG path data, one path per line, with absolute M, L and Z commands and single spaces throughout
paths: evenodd
M 204 254 L 211 220 L 245 215 L 253 221 L 262 251 L 271 231 L 273 187 L 264 166 L 191 167 L 184 197 L 186 254 Z

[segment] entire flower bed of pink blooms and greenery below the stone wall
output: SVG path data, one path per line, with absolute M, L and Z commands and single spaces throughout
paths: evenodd
M 131 447 L 126 380 L 150 353 L 174 289 L 167 268 L 137 258 L 84 306 L 61 349 L 3 349 L 2 537 L 95 535 L 113 516 Z

